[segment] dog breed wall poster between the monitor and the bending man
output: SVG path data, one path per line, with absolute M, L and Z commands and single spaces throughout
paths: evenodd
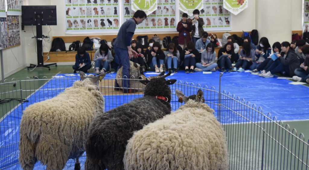
M 66 33 L 118 32 L 120 8 L 118 0 L 64 0 Z M 133 17 L 130 15 L 129 17 Z

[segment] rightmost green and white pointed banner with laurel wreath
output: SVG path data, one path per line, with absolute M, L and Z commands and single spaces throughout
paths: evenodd
M 223 0 L 223 8 L 237 15 L 248 7 L 248 0 Z

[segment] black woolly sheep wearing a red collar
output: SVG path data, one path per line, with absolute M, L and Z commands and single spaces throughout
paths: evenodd
M 97 115 L 88 130 L 85 169 L 123 169 L 125 146 L 134 131 L 171 112 L 171 89 L 176 80 L 155 78 L 147 84 L 144 97 Z

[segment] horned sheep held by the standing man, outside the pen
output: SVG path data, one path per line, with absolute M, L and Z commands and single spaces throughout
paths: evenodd
M 130 88 L 131 89 L 136 89 L 136 91 L 143 91 L 146 87 L 146 85 L 142 84 L 138 79 L 141 80 L 146 80 L 146 76 L 144 75 L 144 72 L 142 70 L 142 67 L 130 61 L 130 72 L 129 72 L 130 77 Z M 157 76 L 150 77 L 150 79 L 153 79 L 155 77 L 161 77 L 164 75 L 164 72 L 158 74 Z M 171 72 L 167 73 L 167 76 L 171 75 Z M 116 74 L 116 81 L 117 84 L 119 85 L 120 88 L 123 87 L 122 85 L 122 67 L 118 69 L 117 74 Z M 125 78 L 125 77 L 124 77 Z

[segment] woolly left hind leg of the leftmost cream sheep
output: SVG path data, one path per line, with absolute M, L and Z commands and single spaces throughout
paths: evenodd
M 35 147 L 26 135 L 19 139 L 19 164 L 24 170 L 31 170 L 36 163 Z

